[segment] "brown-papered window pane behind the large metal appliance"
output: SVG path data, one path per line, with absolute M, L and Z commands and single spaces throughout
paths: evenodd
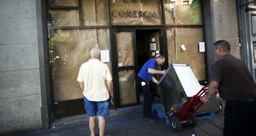
M 205 80 L 205 53 L 198 49 L 199 42 L 203 41 L 203 28 L 168 28 L 166 34 L 170 62 L 188 64 L 198 81 Z M 182 51 L 181 45 L 187 50 Z

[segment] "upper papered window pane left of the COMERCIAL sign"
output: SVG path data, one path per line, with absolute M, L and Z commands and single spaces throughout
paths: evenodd
M 108 20 L 108 1 L 49 0 L 49 26 L 107 26 Z

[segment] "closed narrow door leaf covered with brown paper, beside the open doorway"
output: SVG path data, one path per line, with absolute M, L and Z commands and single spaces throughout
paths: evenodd
M 135 84 L 134 31 L 115 31 L 116 62 L 118 81 L 117 95 L 119 106 L 135 105 L 137 92 Z

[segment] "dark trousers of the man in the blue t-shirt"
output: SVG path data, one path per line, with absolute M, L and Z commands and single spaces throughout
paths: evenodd
M 147 82 L 139 77 L 136 78 L 136 81 L 140 85 L 142 92 L 144 94 L 143 117 L 151 118 L 151 106 L 153 103 L 154 93 L 150 87 L 150 82 Z M 143 82 L 145 82 L 145 84 Z

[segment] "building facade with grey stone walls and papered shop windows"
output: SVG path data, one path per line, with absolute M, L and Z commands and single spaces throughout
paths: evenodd
M 135 76 L 160 54 L 167 61 L 159 69 L 186 63 L 207 84 L 219 39 L 255 78 L 254 1 L 11 0 L 0 7 L 0 134 L 85 114 L 76 78 L 92 47 L 113 74 L 114 108 L 142 102 Z

